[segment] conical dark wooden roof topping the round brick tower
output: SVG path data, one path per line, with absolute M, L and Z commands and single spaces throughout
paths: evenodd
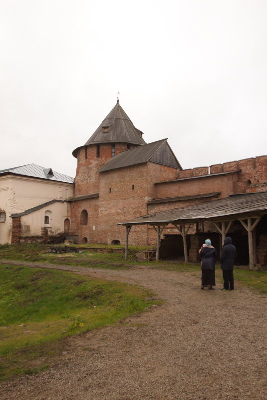
M 108 127 L 105 132 L 103 127 Z M 89 144 L 99 143 L 131 143 L 131 144 L 146 144 L 142 138 L 142 132 L 136 129 L 126 112 L 117 102 L 115 107 L 112 108 L 110 113 L 102 121 L 96 131 L 87 140 L 84 146 Z M 77 150 L 83 146 L 77 147 L 73 150 L 72 154 L 77 158 Z

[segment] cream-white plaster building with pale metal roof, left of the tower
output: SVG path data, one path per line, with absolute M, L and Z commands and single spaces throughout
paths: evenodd
M 36 164 L 0 171 L 0 243 L 11 243 L 14 219 L 19 219 L 20 242 L 68 232 L 73 178 Z M 12 233 L 13 230 L 13 233 Z M 26 240 L 27 238 L 27 240 Z M 17 243 L 17 242 L 16 242 Z

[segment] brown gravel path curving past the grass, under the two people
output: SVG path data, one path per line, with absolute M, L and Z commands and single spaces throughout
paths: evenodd
M 194 272 L 75 271 L 150 288 L 165 304 L 72 338 L 60 364 L 2 383 L 1 400 L 267 400 L 266 296 L 201 291 Z

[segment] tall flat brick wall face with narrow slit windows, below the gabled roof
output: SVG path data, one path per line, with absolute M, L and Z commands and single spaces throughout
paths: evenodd
M 147 164 L 102 172 L 99 190 L 100 243 L 119 240 L 125 243 L 125 228 L 116 226 L 139 215 L 147 214 L 147 194 L 153 187 Z M 129 243 L 146 244 L 146 226 L 132 228 Z

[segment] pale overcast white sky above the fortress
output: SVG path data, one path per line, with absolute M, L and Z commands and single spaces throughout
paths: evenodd
M 266 0 L 0 0 L 0 169 L 75 176 L 120 104 L 183 168 L 267 153 Z

